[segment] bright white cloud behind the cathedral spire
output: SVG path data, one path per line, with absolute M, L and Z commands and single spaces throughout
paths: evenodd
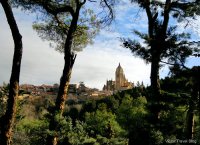
M 114 43 L 116 42 L 113 40 L 95 43 L 79 53 L 73 69 L 72 82 L 84 81 L 90 87 L 101 89 L 107 79 L 115 79 L 115 70 L 120 62 L 129 81 L 144 81 L 145 84 L 149 84 L 150 66 L 141 59 L 134 58 L 129 50 Z

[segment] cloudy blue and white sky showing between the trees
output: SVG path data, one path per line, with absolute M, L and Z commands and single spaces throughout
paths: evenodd
M 113 24 L 109 28 L 102 29 L 92 45 L 77 53 L 70 83 L 84 82 L 88 87 L 102 89 L 106 80 L 114 80 L 115 70 L 120 63 L 129 81 L 134 83 L 143 81 L 146 85 L 150 84 L 150 65 L 134 57 L 130 50 L 121 46 L 120 41 L 120 37 L 133 37 L 131 33 L 133 29 L 147 30 L 145 14 L 137 13 L 138 11 L 140 10 L 135 5 L 117 7 Z M 32 14 L 15 9 L 14 15 L 23 37 L 20 84 L 59 84 L 64 55 L 49 47 L 49 42 L 42 41 L 32 30 L 32 23 L 35 20 Z M 2 85 L 3 82 L 9 82 L 14 48 L 2 7 L 0 7 L 0 22 L 0 85 Z M 199 36 L 198 33 L 196 35 Z M 194 64 L 200 63 L 194 58 L 190 59 L 188 65 Z M 168 68 L 161 68 L 160 75 L 167 76 Z

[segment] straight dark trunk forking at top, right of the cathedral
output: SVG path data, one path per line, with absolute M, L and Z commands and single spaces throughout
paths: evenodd
M 152 121 L 157 123 L 160 113 L 160 82 L 159 82 L 159 62 L 161 59 L 162 50 L 165 49 L 165 38 L 169 23 L 169 12 L 170 12 L 171 0 L 165 1 L 164 13 L 163 13 L 163 23 L 161 25 L 160 31 L 157 30 L 158 24 L 156 24 L 157 14 L 153 14 L 150 8 L 150 0 L 145 1 L 145 10 L 148 17 L 148 35 L 151 40 L 151 89 L 152 89 Z

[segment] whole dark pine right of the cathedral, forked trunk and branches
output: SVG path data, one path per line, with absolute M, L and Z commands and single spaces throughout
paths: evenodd
M 129 48 L 135 56 L 139 56 L 151 64 L 151 95 L 152 124 L 160 121 L 162 109 L 161 87 L 159 70 L 162 63 L 184 66 L 186 58 L 198 54 L 199 41 L 195 42 L 190 34 L 177 32 L 177 26 L 170 23 L 171 19 L 177 22 L 194 17 L 199 13 L 199 0 L 131 0 L 144 9 L 148 20 L 148 32 L 141 33 L 134 30 L 143 42 L 122 38 L 123 46 Z

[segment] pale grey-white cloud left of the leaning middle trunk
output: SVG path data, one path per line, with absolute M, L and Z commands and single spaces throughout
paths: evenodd
M 20 33 L 23 36 L 20 82 L 41 84 L 55 82 L 55 79 L 59 80 L 59 73 L 61 72 L 59 70 L 63 66 L 63 56 L 49 48 L 48 43 L 41 41 L 32 30 L 32 22 L 28 18 L 29 16 L 22 13 L 21 15 L 17 12 L 16 20 Z M 29 21 L 26 21 L 26 18 Z M 2 9 L 0 11 L 0 19 L 0 82 L 9 82 L 14 46 L 12 35 Z

